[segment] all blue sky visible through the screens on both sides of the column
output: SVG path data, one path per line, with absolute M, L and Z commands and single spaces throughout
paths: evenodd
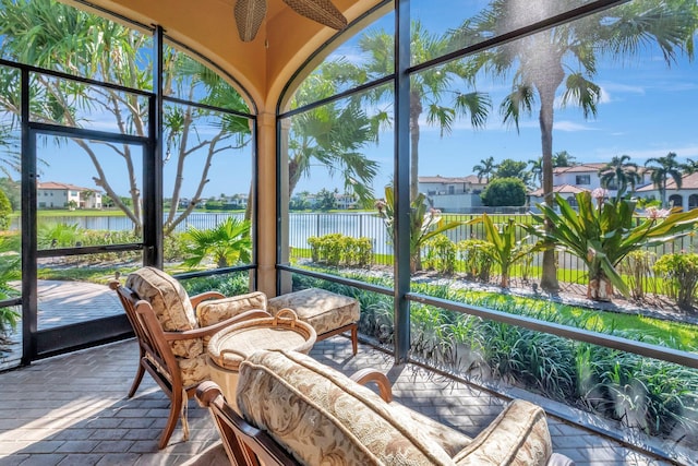
M 452 2 L 420 0 L 414 3 L 413 15 L 434 34 L 442 34 L 460 23 L 458 14 L 444 15 L 442 9 Z M 485 2 L 462 2 L 462 16 Z M 392 15 L 384 17 L 372 27 L 392 29 Z M 350 60 L 359 59 L 356 39 L 340 46 L 335 55 Z M 478 91 L 492 97 L 493 111 L 484 129 L 473 130 L 467 120 L 455 123 L 450 135 L 441 138 L 437 128 L 426 124 L 422 116 L 420 131 L 420 167 L 422 176 L 442 175 L 462 177 L 473 172 L 472 167 L 490 156 L 495 162 L 514 158 L 528 162 L 540 156 L 540 129 L 537 109 L 525 117 L 520 131 L 503 126 L 497 115 L 502 96 L 508 89 L 510 76 L 493 82 L 479 79 Z M 594 82 L 601 86 L 602 98 L 597 118 L 585 120 L 576 107 L 555 110 L 553 151 L 567 151 L 577 162 L 607 162 L 613 156 L 627 154 L 633 162 L 642 165 L 649 157 L 664 156 L 675 152 L 679 159 L 698 159 L 698 67 L 685 57 L 671 68 L 663 61 L 658 50 L 647 50 L 630 62 L 619 62 L 605 58 L 598 63 Z M 369 109 L 370 110 L 370 109 Z M 202 134 L 206 136 L 206 134 Z M 82 151 L 64 147 L 47 148 L 45 156 L 52 159 L 44 169 L 43 180 L 70 182 L 94 188 L 92 178 L 95 170 Z M 366 146 L 365 154 L 381 166 L 374 182 L 380 195 L 383 186 L 389 182 L 393 171 L 393 134 L 384 133 L 378 146 Z M 74 164 L 61 163 L 62 157 L 74 159 Z M 106 158 L 113 158 L 105 156 Z M 184 179 L 182 196 L 193 195 L 203 164 L 203 154 L 186 162 L 188 177 Z M 173 163 L 166 165 L 166 196 L 171 192 Z M 108 177 L 117 190 L 125 195 L 125 171 L 116 164 L 108 163 Z M 79 169 L 75 169 L 75 166 Z M 139 170 L 140 174 L 140 170 Z M 221 193 L 246 193 L 252 178 L 251 147 L 228 152 L 216 156 L 209 172 L 209 182 L 204 198 Z M 344 189 L 344 180 L 332 178 L 327 170 L 314 167 L 311 176 L 300 181 L 297 192 L 317 192 L 323 188 Z

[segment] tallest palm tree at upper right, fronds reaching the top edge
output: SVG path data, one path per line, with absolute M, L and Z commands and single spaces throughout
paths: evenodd
M 576 0 L 561 0 L 559 11 L 577 7 Z M 467 20 L 454 32 L 454 47 L 462 48 L 528 25 L 529 0 L 493 0 L 490 7 Z M 599 14 L 552 27 L 521 39 L 506 41 L 480 53 L 480 69 L 496 76 L 515 70 L 512 93 L 500 106 L 505 123 L 539 106 L 543 193 L 546 205 L 553 198 L 553 121 L 556 98 L 561 106 L 576 105 L 585 118 L 597 115 L 601 89 L 591 80 L 598 57 L 638 57 L 646 47 L 659 47 L 667 64 L 677 53 L 693 58 L 698 9 L 695 0 L 645 0 L 625 3 Z M 639 20 L 641 19 L 641 21 Z M 564 92 L 557 89 L 564 84 Z M 547 228 L 552 225 L 546 224 Z M 554 251 L 543 253 L 541 287 L 558 288 Z

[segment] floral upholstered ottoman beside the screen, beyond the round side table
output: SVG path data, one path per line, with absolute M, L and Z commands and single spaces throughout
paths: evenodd
M 301 321 L 312 325 L 318 342 L 350 331 L 351 349 L 357 354 L 360 308 L 356 299 L 325 289 L 308 288 L 277 296 L 267 302 L 267 311 L 273 315 L 284 308 L 292 309 Z

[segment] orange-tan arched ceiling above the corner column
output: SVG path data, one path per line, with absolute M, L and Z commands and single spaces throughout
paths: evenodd
M 81 9 L 81 1 L 67 0 Z M 382 0 L 333 0 L 349 23 Z M 260 112 L 274 111 L 293 73 L 337 32 L 267 0 L 267 14 L 254 40 L 243 43 L 233 16 L 236 0 L 91 0 L 87 4 L 146 25 L 160 25 L 233 76 Z

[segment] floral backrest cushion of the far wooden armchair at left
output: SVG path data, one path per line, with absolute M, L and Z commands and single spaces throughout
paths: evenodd
M 189 295 L 182 285 L 155 267 L 142 267 L 129 274 L 125 286 L 151 303 L 165 332 L 182 332 L 198 327 Z M 196 357 L 204 353 L 201 338 L 173 342 L 174 356 Z

